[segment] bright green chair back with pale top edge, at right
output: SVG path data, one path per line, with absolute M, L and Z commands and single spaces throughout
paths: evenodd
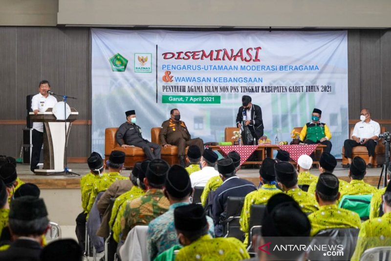
M 368 195 L 345 195 L 339 202 L 338 207 L 353 211 L 360 215 L 361 220 L 369 218 L 370 199 L 372 194 Z

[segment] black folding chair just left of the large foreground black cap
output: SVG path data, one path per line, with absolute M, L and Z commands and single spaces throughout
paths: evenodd
M 248 230 L 247 252 L 252 255 L 255 255 L 252 238 L 254 235 L 261 235 L 261 225 L 265 210 L 266 205 L 251 205 L 250 222 L 248 226 L 250 229 Z

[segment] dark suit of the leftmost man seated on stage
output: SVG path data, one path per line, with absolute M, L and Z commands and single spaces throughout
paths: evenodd
M 134 123 L 125 122 L 121 124 L 116 134 L 116 141 L 121 146 L 127 144 L 142 148 L 150 160 L 160 159 L 161 146 L 143 139 L 141 128 Z

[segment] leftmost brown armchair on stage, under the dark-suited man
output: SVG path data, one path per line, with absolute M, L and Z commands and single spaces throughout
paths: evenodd
M 118 128 L 107 128 L 105 131 L 105 159 L 108 160 L 111 151 L 120 150 L 125 152 L 125 167 L 133 167 L 138 161 L 146 159 L 145 153 L 140 147 L 121 147 L 115 140 Z

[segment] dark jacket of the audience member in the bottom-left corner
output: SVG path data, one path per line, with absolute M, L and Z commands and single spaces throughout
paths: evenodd
M 40 261 L 42 247 L 37 241 L 17 239 L 5 251 L 0 251 L 0 261 Z

